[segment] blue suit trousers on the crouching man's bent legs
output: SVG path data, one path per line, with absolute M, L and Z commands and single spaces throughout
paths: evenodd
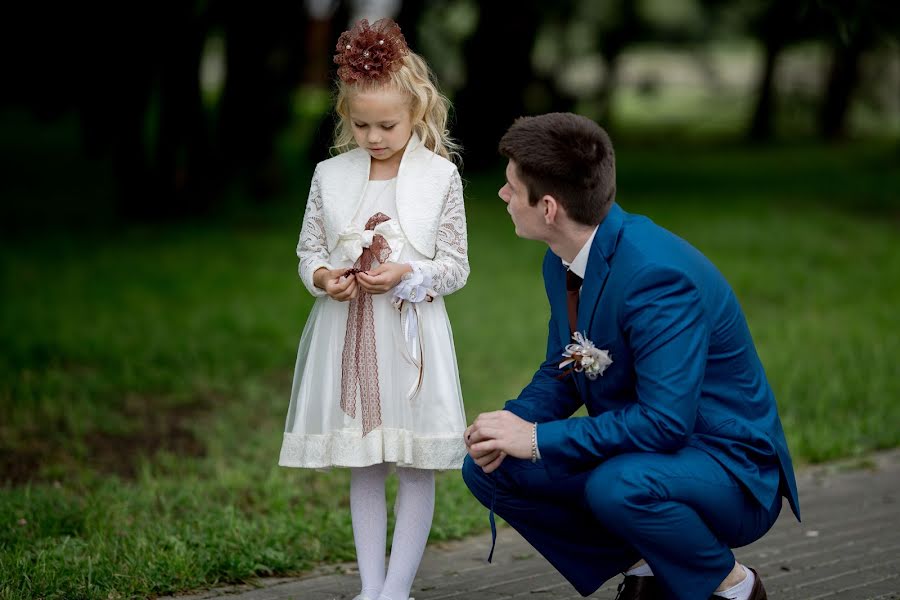
M 466 457 L 463 479 L 582 596 L 643 558 L 670 596 L 706 600 L 734 566 L 731 548 L 761 538 L 781 497 L 761 506 L 709 454 L 615 456 L 551 479 L 540 461 L 507 457 L 486 474 Z

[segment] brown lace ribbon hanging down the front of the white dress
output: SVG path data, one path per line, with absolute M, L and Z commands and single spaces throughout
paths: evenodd
M 384 213 L 375 213 L 366 221 L 366 230 L 390 221 Z M 383 236 L 375 235 L 372 244 L 363 248 L 348 272 L 368 271 L 372 262 L 387 261 L 391 247 Z M 356 390 L 362 405 L 363 436 L 381 425 L 381 393 L 378 388 L 378 354 L 375 348 L 375 313 L 372 295 L 359 291 L 350 301 L 344 353 L 341 357 L 341 410 L 356 418 Z

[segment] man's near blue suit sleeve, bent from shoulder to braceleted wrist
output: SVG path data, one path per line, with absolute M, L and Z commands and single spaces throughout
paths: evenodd
M 622 329 L 637 401 L 538 427 L 541 456 L 554 473 L 583 471 L 624 452 L 672 452 L 693 432 L 709 342 L 694 283 L 667 267 L 638 272 L 626 286 Z

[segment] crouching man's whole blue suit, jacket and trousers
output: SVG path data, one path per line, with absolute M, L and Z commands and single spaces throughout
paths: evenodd
M 473 493 L 583 595 L 643 557 L 677 598 L 707 598 L 730 548 L 761 537 L 787 497 L 799 518 L 775 398 L 743 312 L 700 252 L 617 204 L 590 249 L 577 329 L 612 364 L 559 378 L 571 342 L 566 268 L 547 252 L 545 362 L 509 410 L 538 423 L 541 460 L 507 458 Z M 569 418 L 580 407 L 587 417 Z

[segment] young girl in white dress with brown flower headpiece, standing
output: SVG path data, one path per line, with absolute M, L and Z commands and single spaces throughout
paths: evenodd
M 297 255 L 317 297 L 279 464 L 350 467 L 362 600 L 407 600 L 466 428 L 443 296 L 469 275 L 447 100 L 389 19 L 344 32 L 334 158 L 313 175 Z M 400 486 L 389 568 L 384 483 Z

